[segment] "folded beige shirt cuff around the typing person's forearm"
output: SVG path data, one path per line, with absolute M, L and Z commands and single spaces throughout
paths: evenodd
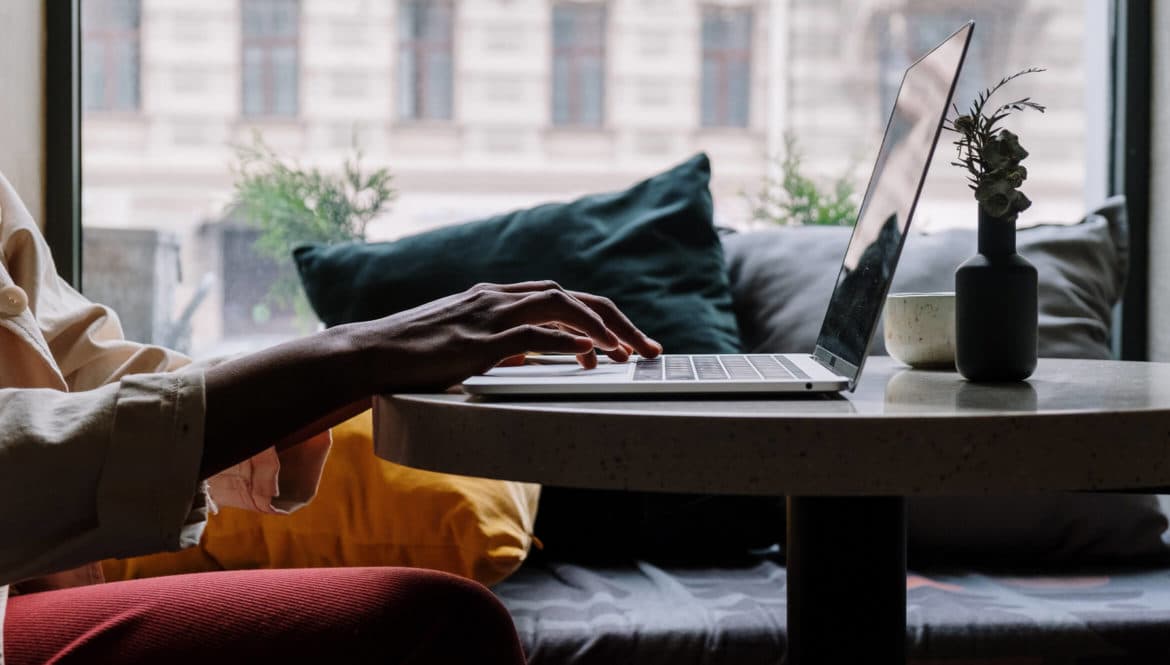
M 197 544 L 207 523 L 204 372 L 135 375 L 121 382 L 97 489 L 97 517 L 115 556 Z

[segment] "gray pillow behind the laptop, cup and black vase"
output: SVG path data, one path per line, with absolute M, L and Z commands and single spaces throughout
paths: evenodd
M 1075 225 L 1024 228 L 1020 253 L 1040 273 L 1040 355 L 1108 358 L 1113 307 L 1129 267 L 1120 199 Z M 812 351 L 849 241 L 845 227 L 780 227 L 723 236 L 739 332 L 748 351 Z M 955 289 L 955 268 L 976 248 L 975 232 L 913 234 L 892 293 Z M 882 334 L 874 354 L 885 354 Z

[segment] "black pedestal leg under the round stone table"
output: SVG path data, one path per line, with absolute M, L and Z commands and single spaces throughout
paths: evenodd
M 906 663 L 906 499 L 790 496 L 787 665 Z

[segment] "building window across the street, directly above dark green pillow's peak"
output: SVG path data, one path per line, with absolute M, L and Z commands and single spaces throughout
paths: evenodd
M 703 9 L 703 126 L 748 126 L 751 9 Z

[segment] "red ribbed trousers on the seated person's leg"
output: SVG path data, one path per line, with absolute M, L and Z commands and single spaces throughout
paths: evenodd
M 524 663 L 486 588 L 408 568 L 241 570 L 14 596 L 8 665 Z

